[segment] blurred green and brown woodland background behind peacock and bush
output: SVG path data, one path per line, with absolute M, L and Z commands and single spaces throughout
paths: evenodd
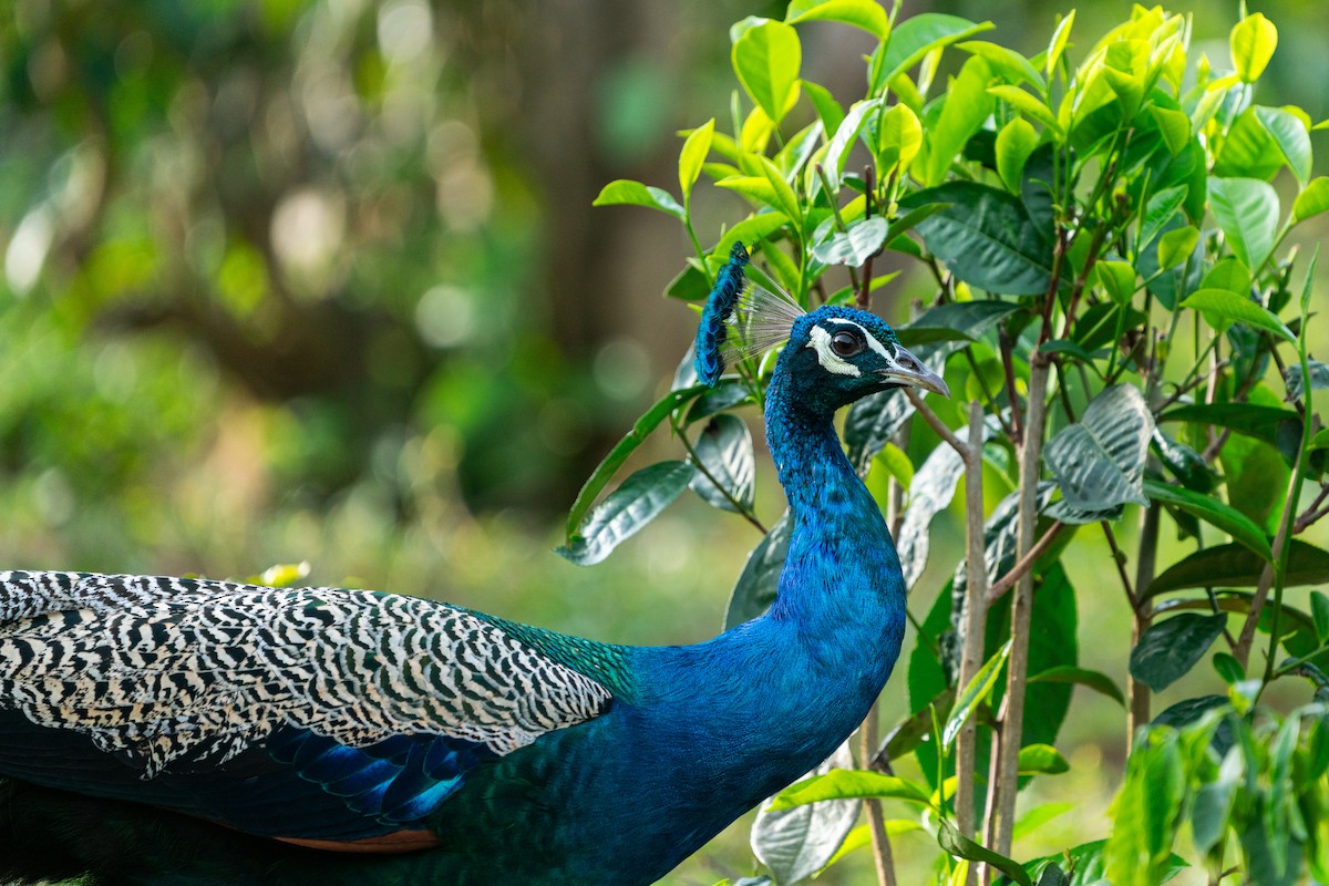
M 904 13 L 990 19 L 1034 53 L 1071 5 Z M 1249 8 L 1280 31 L 1259 100 L 1329 116 L 1322 4 Z M 1170 9 L 1225 62 L 1235 0 Z M 1082 4 L 1075 39 L 1128 12 Z M 688 252 L 678 226 L 591 199 L 614 178 L 675 181 L 676 130 L 728 108 L 727 28 L 746 15 L 783 4 L 4 4 L 0 565 L 227 576 L 308 561 L 312 582 L 603 640 L 712 634 L 758 541 L 746 523 L 684 501 L 593 570 L 549 550 L 695 319 L 659 296 Z M 812 25 L 805 73 L 852 101 L 861 49 Z M 700 199 L 703 240 L 746 211 Z M 906 278 L 877 307 L 897 316 L 928 288 Z M 953 526 L 936 530 L 925 596 L 958 551 Z M 1082 612 L 1082 647 L 1116 673 L 1123 607 L 1095 594 L 1106 549 L 1084 547 L 1082 606 L 1103 612 Z M 1074 777 L 1104 772 L 1066 788 L 1098 814 L 1120 717 L 1076 704 Z M 1083 822 L 1083 840 L 1106 832 Z M 743 873 L 744 834 L 678 882 Z

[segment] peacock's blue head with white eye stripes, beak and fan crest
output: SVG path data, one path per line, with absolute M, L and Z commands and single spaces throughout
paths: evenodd
M 750 279 L 747 250 L 736 244 L 716 278 L 696 336 L 696 373 L 716 384 L 726 357 L 744 359 L 785 343 L 776 363 L 783 396 L 816 414 L 889 388 L 950 396 L 941 376 L 909 353 L 880 317 L 824 306 L 807 312 L 777 287 Z

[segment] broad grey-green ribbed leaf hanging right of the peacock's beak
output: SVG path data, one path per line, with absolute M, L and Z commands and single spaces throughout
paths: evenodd
M 1147 505 L 1143 478 L 1152 433 L 1154 416 L 1139 389 L 1114 385 L 1094 397 L 1076 424 L 1053 437 L 1043 461 L 1071 507 Z

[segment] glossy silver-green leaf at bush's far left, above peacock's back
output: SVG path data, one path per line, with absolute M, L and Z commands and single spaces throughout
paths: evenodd
M 642 468 L 597 505 L 577 535 L 556 553 L 578 566 L 594 566 L 682 495 L 695 472 L 684 461 Z

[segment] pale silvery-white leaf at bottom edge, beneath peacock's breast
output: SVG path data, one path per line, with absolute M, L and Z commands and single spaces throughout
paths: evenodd
M 853 756 L 840 745 L 835 756 L 817 768 L 853 765 Z M 796 883 L 821 870 L 853 830 L 863 804 L 857 800 L 827 802 L 775 810 L 763 808 L 752 824 L 752 851 L 777 883 Z

